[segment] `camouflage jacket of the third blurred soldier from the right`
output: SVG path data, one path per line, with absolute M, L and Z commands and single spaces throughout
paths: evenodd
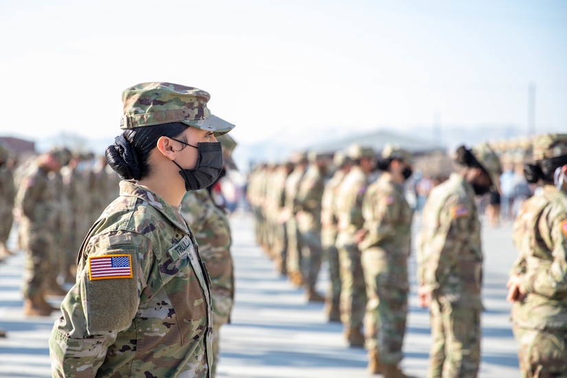
M 361 250 L 379 247 L 401 256 L 410 256 L 412 208 L 403 197 L 403 186 L 384 173 L 368 186 L 362 201 L 364 229 Z

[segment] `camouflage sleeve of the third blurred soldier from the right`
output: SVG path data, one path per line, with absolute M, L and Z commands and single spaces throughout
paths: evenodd
M 359 244 L 366 249 L 394 236 L 394 222 L 399 219 L 400 201 L 392 192 L 367 192 L 363 200 L 364 229 L 368 231 Z

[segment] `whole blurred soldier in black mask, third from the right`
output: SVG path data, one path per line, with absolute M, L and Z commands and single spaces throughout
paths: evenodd
M 386 378 L 407 377 L 398 365 L 408 315 L 413 215 L 403 183 L 412 175 L 412 161 L 408 151 L 386 145 L 377 163 L 383 173 L 364 194 L 364 229 L 357 234 L 368 297 L 364 326 L 368 370 Z

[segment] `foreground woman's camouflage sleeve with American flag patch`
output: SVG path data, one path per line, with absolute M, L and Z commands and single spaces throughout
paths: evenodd
M 54 377 L 95 377 L 118 333 L 132 325 L 153 264 L 141 252 L 151 251 L 148 243 L 128 233 L 91 239 L 49 339 Z

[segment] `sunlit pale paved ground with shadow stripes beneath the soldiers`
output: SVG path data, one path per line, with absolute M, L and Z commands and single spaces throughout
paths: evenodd
M 370 377 L 366 352 L 348 348 L 342 326 L 328 323 L 322 304 L 308 304 L 300 289 L 275 273 L 254 242 L 252 220 L 232 219 L 236 265 L 236 306 L 232 324 L 221 329 L 221 359 L 217 377 Z M 419 230 L 416 221 L 415 230 Z M 509 323 L 506 280 L 515 252 L 511 227 L 485 227 L 485 285 L 482 314 L 480 377 L 520 377 L 516 346 Z M 49 377 L 47 340 L 57 314 L 23 318 L 20 293 L 23 255 L 0 265 L 0 377 Z M 429 315 L 416 306 L 415 261 L 410 261 L 412 293 L 403 370 L 425 377 L 430 348 Z M 326 287 L 323 269 L 319 289 Z M 51 298 L 58 304 L 60 298 Z

